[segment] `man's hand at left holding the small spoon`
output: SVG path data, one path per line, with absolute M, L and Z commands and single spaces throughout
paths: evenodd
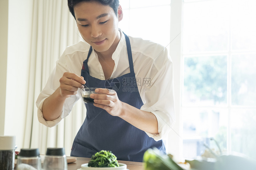
M 74 73 L 65 72 L 60 78 L 60 95 L 68 98 L 71 95 L 76 95 L 78 88 L 84 88 L 84 78 Z

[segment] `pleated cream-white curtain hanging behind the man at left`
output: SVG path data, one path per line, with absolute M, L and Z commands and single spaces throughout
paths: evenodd
M 23 147 L 39 148 L 41 154 L 45 154 L 47 147 L 65 147 L 66 155 L 70 155 L 74 137 L 86 115 L 82 102 L 78 102 L 71 114 L 52 128 L 38 122 L 35 102 L 65 47 L 82 39 L 76 22 L 68 11 L 67 0 L 34 0 L 32 18 Z

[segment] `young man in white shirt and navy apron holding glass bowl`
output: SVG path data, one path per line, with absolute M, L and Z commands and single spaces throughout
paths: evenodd
M 85 41 L 67 47 L 57 61 L 38 96 L 38 120 L 49 127 L 59 123 L 82 98 L 77 91 L 85 84 L 98 89 L 90 95 L 94 104 L 85 104 L 71 156 L 110 150 L 118 160 L 142 162 L 148 148 L 166 153 L 162 138 L 175 121 L 166 48 L 118 29 L 118 0 L 68 0 L 68 7 Z

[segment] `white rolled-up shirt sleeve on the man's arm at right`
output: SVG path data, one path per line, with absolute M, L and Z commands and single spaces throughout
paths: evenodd
M 157 118 L 158 133 L 146 132 L 155 141 L 163 139 L 175 123 L 173 63 L 167 60 L 145 87 L 145 103 L 141 110 L 152 112 Z

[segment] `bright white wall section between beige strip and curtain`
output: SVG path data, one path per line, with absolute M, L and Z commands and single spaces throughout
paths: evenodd
M 6 4 L 4 5 L 5 10 L 8 9 L 8 27 L 6 25 L 8 29 L 4 32 L 6 36 L 8 35 L 8 41 L 5 40 L 5 44 L 8 45 L 5 73 L 6 98 L 5 112 L 0 116 L 1 119 L 5 117 L 4 135 L 16 136 L 16 144 L 20 148 L 23 145 L 24 136 L 24 129 L 20 127 L 24 127 L 26 117 L 33 0 L 9 0 L 8 2 L 8 8 Z

